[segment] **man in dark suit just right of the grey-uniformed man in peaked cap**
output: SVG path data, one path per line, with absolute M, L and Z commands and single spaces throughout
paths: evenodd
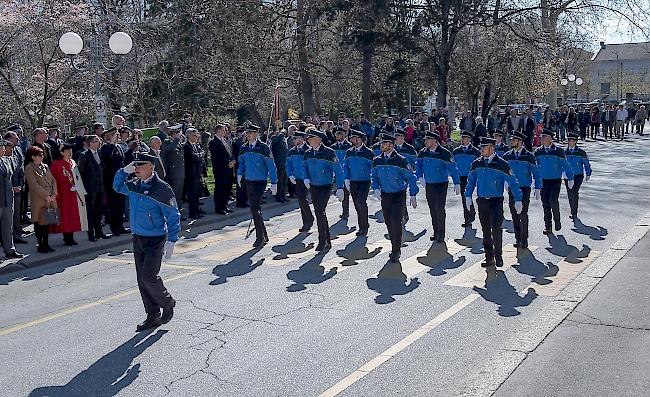
M 187 201 L 189 217 L 191 219 L 203 218 L 199 209 L 201 196 L 201 177 L 203 175 L 205 153 L 199 143 L 199 132 L 189 127 L 187 129 L 187 142 L 183 145 L 185 156 L 185 184 L 187 186 Z

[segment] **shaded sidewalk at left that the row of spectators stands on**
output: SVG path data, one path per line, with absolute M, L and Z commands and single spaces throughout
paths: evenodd
M 263 205 L 262 210 L 267 211 L 273 208 L 278 208 L 282 206 L 287 206 L 291 208 L 292 206 L 297 206 L 295 200 L 290 200 L 287 203 L 279 203 L 275 201 L 273 196 L 269 192 L 265 193 L 264 199 L 266 204 Z M 195 235 L 197 229 L 200 229 L 201 232 L 206 232 L 213 229 L 219 229 L 226 225 L 232 225 L 242 220 L 250 218 L 250 210 L 248 208 L 238 208 L 235 207 L 234 203 L 230 205 L 230 208 L 233 212 L 228 215 L 216 215 L 214 213 L 214 200 L 212 196 L 205 197 L 201 199 L 201 202 L 204 205 L 201 207 L 206 215 L 196 221 L 186 220 L 181 222 L 181 237 L 189 235 Z M 187 211 L 183 211 L 185 214 Z M 266 214 L 265 214 L 266 215 Z M 183 215 L 185 216 L 185 215 Z M 125 227 L 128 227 L 128 222 L 125 223 Z M 33 227 L 29 226 L 25 228 L 26 231 L 32 231 Z M 188 233 L 189 230 L 189 233 Z M 104 232 L 109 233 L 108 226 L 104 226 Z M 46 265 L 48 263 L 56 262 L 62 259 L 76 257 L 86 254 L 102 254 L 110 252 L 111 249 L 116 247 L 129 245 L 131 243 L 131 234 L 120 235 L 119 237 L 111 237 L 108 240 L 98 240 L 96 242 L 89 242 L 86 232 L 75 233 L 75 240 L 79 245 L 66 247 L 63 245 L 63 237 L 61 234 L 50 234 L 50 246 L 56 250 L 56 252 L 49 254 L 41 254 L 36 252 L 36 237 L 32 233 L 29 235 L 26 240 L 28 244 L 16 244 L 16 250 L 22 254 L 27 254 L 23 259 L 0 259 L 0 274 L 9 274 L 24 270 L 26 268 L 32 268 L 36 266 Z

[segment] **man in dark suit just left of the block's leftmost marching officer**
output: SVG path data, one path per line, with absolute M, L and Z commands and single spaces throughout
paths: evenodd
M 233 169 L 235 159 L 233 150 L 226 139 L 226 129 L 219 124 L 214 130 L 214 138 L 210 141 L 210 159 L 214 174 L 214 211 L 220 215 L 228 215 L 228 198 L 232 190 Z

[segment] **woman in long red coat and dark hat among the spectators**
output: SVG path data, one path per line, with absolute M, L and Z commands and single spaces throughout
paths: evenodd
M 88 230 L 86 225 L 85 189 L 77 170 L 77 164 L 72 160 L 72 145 L 61 146 L 63 158 L 52 163 L 52 175 L 56 180 L 56 201 L 61 211 L 61 223 L 51 227 L 52 233 L 63 233 L 65 245 L 77 245 L 74 232 Z

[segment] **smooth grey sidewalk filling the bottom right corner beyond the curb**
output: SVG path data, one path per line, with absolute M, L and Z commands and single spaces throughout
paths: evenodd
M 650 393 L 650 233 L 501 385 L 495 396 Z

